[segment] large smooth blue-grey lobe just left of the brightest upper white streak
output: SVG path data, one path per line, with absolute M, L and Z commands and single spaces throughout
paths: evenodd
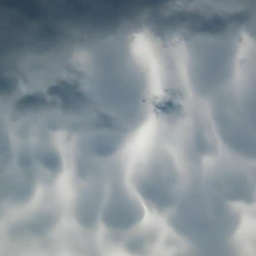
M 145 90 L 145 78 L 137 69 L 123 38 L 107 38 L 92 49 L 94 65 L 94 88 L 92 92 L 102 108 L 125 121 L 126 127 L 138 125 L 144 112 L 139 108 Z

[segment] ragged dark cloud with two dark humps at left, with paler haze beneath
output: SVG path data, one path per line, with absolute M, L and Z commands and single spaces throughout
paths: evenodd
M 34 125 L 39 123 L 51 130 L 118 127 L 115 119 L 103 113 L 79 85 L 66 81 L 49 86 L 44 92 L 21 96 L 15 103 L 13 120 L 22 123 L 24 117 Z

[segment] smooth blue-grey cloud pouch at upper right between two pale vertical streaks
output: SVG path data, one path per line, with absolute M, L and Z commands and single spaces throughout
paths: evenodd
M 231 75 L 239 39 L 236 33 L 217 38 L 199 35 L 189 41 L 191 82 L 195 90 L 207 96 L 222 90 Z

